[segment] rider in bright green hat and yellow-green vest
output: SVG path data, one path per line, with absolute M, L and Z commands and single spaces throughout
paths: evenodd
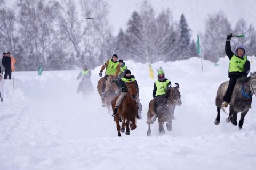
M 157 78 L 158 80 L 154 83 L 154 90 L 153 90 L 153 98 L 155 98 L 155 104 L 154 104 L 154 116 L 152 118 L 153 121 L 156 121 L 157 114 L 156 114 L 156 108 L 159 103 L 162 103 L 163 101 L 166 101 L 166 89 L 167 87 L 171 87 L 171 81 L 165 78 L 164 71 L 162 67 L 160 67 L 159 70 L 157 70 Z

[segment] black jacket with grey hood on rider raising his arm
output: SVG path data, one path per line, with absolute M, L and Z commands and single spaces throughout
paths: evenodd
M 238 48 L 241 48 L 241 47 L 239 47 L 239 45 L 236 47 L 236 49 L 235 49 L 235 54 L 232 52 L 232 50 L 231 50 L 231 45 L 230 45 L 230 41 L 226 41 L 226 45 L 225 45 L 225 52 L 226 52 L 226 54 L 227 54 L 227 56 L 228 56 L 228 58 L 229 58 L 229 60 L 230 60 L 230 62 L 231 62 L 231 58 L 233 57 L 233 59 L 234 59 L 234 57 L 237 57 L 237 59 L 238 60 L 241 60 L 241 61 L 243 61 L 243 60 L 246 60 L 245 61 L 245 64 L 244 64 L 244 67 L 243 67 L 243 69 L 242 69 L 242 71 L 230 71 L 230 70 L 233 70 L 233 69 L 228 69 L 229 70 L 229 72 L 228 72 L 228 77 L 230 77 L 230 75 L 235 75 L 235 76 L 237 76 L 237 77 L 241 77 L 241 76 L 247 76 L 248 75 L 248 73 L 250 72 L 250 62 L 247 60 L 247 57 L 246 57 L 246 50 L 245 50 L 245 48 L 242 46 L 242 45 L 240 45 L 243 49 L 244 49 L 244 56 L 243 57 L 239 57 L 238 55 L 237 55 L 237 49 Z M 246 57 L 246 58 L 245 58 Z M 232 64 L 231 64 L 231 66 L 233 66 Z M 230 67 L 230 64 L 229 64 L 229 67 Z

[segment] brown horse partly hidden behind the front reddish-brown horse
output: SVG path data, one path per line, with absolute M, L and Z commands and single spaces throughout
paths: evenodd
M 105 103 L 102 103 L 102 107 L 107 107 L 108 111 L 110 112 L 111 100 L 118 95 L 119 87 L 116 85 L 114 76 L 109 76 L 107 80 L 105 78 L 101 78 L 98 81 L 97 89 L 99 92 L 100 97 L 102 97 L 102 86 L 103 83 L 106 84 L 105 86 Z M 105 106 L 104 106 L 105 105 Z

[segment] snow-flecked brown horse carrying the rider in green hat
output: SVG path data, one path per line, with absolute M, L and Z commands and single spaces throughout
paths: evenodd
M 175 83 L 175 87 L 168 87 L 166 89 L 166 102 L 162 102 L 158 104 L 156 108 L 156 114 L 158 116 L 158 124 L 159 124 L 159 133 L 164 134 L 164 122 L 166 122 L 166 127 L 168 131 L 172 130 L 172 120 L 174 119 L 174 110 L 176 106 L 181 106 L 181 95 L 179 91 L 179 84 Z M 147 136 L 151 135 L 151 128 L 150 125 L 154 123 L 152 121 L 152 117 L 154 115 L 154 105 L 156 99 L 152 99 L 149 102 L 149 109 L 147 113 L 147 124 L 148 124 L 148 131 Z

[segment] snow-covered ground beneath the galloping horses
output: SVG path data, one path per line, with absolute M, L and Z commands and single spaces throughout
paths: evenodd
M 249 60 L 256 71 L 256 58 Z M 227 124 L 222 111 L 214 125 L 215 94 L 228 80 L 228 62 L 203 61 L 203 73 L 199 58 L 152 64 L 155 77 L 162 66 L 180 84 L 182 99 L 173 130 L 159 136 L 156 122 L 152 137 L 146 137 L 146 114 L 156 78 L 149 78 L 147 64 L 126 62 L 140 87 L 143 119 L 121 138 L 96 90 L 100 66 L 92 70 L 94 93 L 86 99 L 76 94 L 79 70 L 14 72 L 15 94 L 6 80 L 0 103 L 0 169 L 254 169 L 255 100 L 242 130 Z

